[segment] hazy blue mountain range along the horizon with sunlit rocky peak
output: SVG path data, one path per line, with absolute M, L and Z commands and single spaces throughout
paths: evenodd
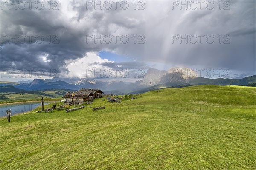
M 186 85 L 248 85 L 256 83 L 256 75 L 245 77 L 242 79 L 210 79 L 204 77 L 193 77 L 191 74 L 185 74 L 186 68 L 170 68 L 167 71 L 149 68 L 144 78 L 135 83 L 112 81 L 104 82 L 95 79 L 81 79 L 81 78 L 63 78 L 54 77 L 52 79 L 34 79 L 32 82 L 26 83 L 4 83 L 0 86 L 13 85 L 15 88 L 26 91 L 38 91 L 44 89 L 71 89 L 78 90 L 80 88 L 99 88 L 105 93 L 125 94 L 133 91 L 140 91 L 152 88 L 164 88 L 173 86 Z M 151 84 L 150 84 L 151 82 Z

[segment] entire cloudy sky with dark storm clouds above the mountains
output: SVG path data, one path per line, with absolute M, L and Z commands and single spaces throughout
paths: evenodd
M 1 0 L 0 8 L 2 81 L 172 67 L 256 74 L 255 0 Z

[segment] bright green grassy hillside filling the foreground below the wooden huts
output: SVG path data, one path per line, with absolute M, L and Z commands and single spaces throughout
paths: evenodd
M 256 169 L 256 88 L 200 85 L 0 119 L 1 169 Z

